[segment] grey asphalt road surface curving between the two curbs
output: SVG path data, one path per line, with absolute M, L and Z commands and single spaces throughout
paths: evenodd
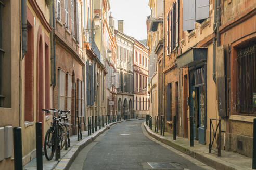
M 212 169 L 148 136 L 143 121 L 112 126 L 79 153 L 70 170 Z

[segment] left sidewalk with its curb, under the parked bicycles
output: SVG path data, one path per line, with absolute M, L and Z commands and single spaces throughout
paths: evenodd
M 112 126 L 117 123 L 124 122 L 121 120 L 120 122 L 113 122 L 109 123 L 108 126 Z M 55 155 L 52 160 L 48 161 L 45 156 L 43 155 L 43 169 L 45 170 L 60 170 L 60 169 L 68 169 L 73 160 L 76 158 L 76 156 L 79 154 L 79 152 L 87 146 L 89 143 L 91 143 L 93 140 L 95 140 L 96 137 L 98 137 L 100 134 L 104 133 L 108 127 L 105 126 L 101 127 L 101 129 L 97 132 L 94 131 L 94 133 L 91 136 L 88 136 L 88 131 L 82 132 L 82 140 L 78 141 L 78 136 L 73 135 L 70 137 L 70 148 L 68 150 L 65 150 L 64 148 L 61 150 L 61 158 L 60 161 L 55 161 Z M 23 170 L 32 170 L 36 169 L 36 158 L 30 161 L 28 164 L 23 166 Z

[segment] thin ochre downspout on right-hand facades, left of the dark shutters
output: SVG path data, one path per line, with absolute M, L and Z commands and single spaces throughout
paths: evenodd
M 164 67 L 165 67 L 165 0 L 163 0 L 163 63 L 162 63 L 162 105 L 163 105 L 163 110 L 162 113 L 165 116 L 165 103 L 164 103 Z M 166 119 L 165 119 L 166 121 Z

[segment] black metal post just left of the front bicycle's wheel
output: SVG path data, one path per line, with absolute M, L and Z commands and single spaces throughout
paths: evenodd
M 42 123 L 35 123 L 35 136 L 36 136 L 36 168 L 43 170 L 43 152 L 42 152 Z

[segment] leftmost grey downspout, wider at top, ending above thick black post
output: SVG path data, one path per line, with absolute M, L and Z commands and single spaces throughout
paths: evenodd
M 21 101 L 22 101 L 22 76 L 21 76 L 21 61 L 27 53 L 28 47 L 28 30 L 27 30 L 27 0 L 21 0 L 21 37 L 20 37 L 20 61 L 19 61 L 19 126 L 21 127 Z M 22 51 L 21 51 L 22 49 Z

